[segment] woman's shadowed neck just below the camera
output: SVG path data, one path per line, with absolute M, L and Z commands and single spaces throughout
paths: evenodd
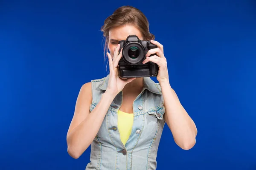
M 132 82 L 129 82 L 123 88 L 123 92 L 133 93 L 133 92 L 141 92 L 143 89 L 143 77 L 138 77 L 134 79 Z

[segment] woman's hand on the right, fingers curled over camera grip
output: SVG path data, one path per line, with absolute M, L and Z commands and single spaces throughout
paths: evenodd
M 157 45 L 158 48 L 153 48 L 151 50 L 148 50 L 148 53 L 146 54 L 147 58 L 143 61 L 143 64 L 149 61 L 156 63 L 159 66 L 158 75 L 157 75 L 158 82 L 164 82 L 164 81 L 169 82 L 167 61 L 166 61 L 166 57 L 164 57 L 164 54 L 163 54 L 163 45 L 154 40 L 151 40 L 150 42 L 154 45 Z M 155 54 L 155 55 L 149 57 L 151 54 Z

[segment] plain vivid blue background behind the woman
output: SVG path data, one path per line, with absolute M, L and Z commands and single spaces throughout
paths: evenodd
M 67 153 L 76 98 L 105 77 L 102 32 L 139 8 L 164 45 L 169 77 L 198 128 L 191 150 L 165 126 L 157 170 L 256 170 L 256 1 L 1 1 L 0 170 L 83 170 Z M 156 79 L 154 79 L 156 81 Z

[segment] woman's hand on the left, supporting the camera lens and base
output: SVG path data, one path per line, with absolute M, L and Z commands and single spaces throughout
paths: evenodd
M 108 61 L 109 61 L 109 80 L 108 80 L 108 88 L 106 92 L 116 96 L 119 94 L 120 91 L 125 87 L 126 84 L 133 81 L 136 78 L 127 78 L 121 79 L 118 74 L 118 62 L 122 57 L 122 49 L 120 54 L 118 54 L 120 49 L 120 44 L 117 45 L 116 49 L 114 50 L 113 60 L 111 54 L 107 53 Z

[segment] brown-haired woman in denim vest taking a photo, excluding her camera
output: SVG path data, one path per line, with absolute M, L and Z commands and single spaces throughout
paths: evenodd
M 67 133 L 68 153 L 77 159 L 91 145 L 86 170 L 155 170 L 164 124 L 184 150 L 195 145 L 197 129 L 169 84 L 163 45 L 154 41 L 148 20 L 137 8 L 122 6 L 105 20 L 102 31 L 110 74 L 81 87 Z M 118 75 L 120 40 L 135 34 L 157 45 L 143 63 L 159 65 L 157 80 L 121 79 Z M 163 102 L 164 101 L 164 102 Z

